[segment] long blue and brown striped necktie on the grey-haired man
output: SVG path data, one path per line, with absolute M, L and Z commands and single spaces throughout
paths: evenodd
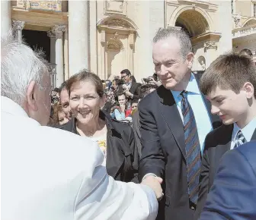
M 184 136 L 187 156 L 187 187 L 190 202 L 197 204 L 200 175 L 200 142 L 194 112 L 187 100 L 187 92 L 181 93 L 181 112 L 184 118 Z

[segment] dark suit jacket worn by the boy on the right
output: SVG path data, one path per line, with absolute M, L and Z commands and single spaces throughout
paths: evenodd
M 194 219 L 200 217 L 200 213 L 206 202 L 207 194 L 213 186 L 213 180 L 216 176 L 216 171 L 219 168 L 219 161 L 222 158 L 222 155 L 230 150 L 233 127 L 233 124 L 223 124 L 206 136 L 202 165 L 200 168 L 200 191 Z M 256 140 L 256 130 L 254 130 L 251 140 Z

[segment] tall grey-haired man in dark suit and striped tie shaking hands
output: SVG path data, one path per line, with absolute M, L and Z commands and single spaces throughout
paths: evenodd
M 191 73 L 193 60 L 187 33 L 158 30 L 153 39 L 153 61 L 162 86 L 139 102 L 139 179 L 164 179 L 159 219 L 194 217 L 204 139 L 219 126 L 219 117 L 210 114 L 210 105 L 200 93 L 200 76 Z

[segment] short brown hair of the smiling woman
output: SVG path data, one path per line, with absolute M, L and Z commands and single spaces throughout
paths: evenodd
M 82 70 L 78 74 L 75 74 L 69 78 L 69 80 L 66 83 L 66 89 L 68 90 L 69 96 L 74 83 L 84 82 L 84 81 L 91 82 L 95 86 L 95 90 L 98 93 L 98 96 L 102 98 L 102 96 L 104 95 L 104 87 L 101 82 L 101 79 L 96 74 L 88 70 Z

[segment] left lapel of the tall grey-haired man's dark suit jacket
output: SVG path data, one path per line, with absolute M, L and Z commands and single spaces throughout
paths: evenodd
M 174 101 L 174 97 L 172 96 L 171 91 L 166 90 L 164 86 L 159 87 L 157 93 L 161 102 L 162 115 L 165 118 L 165 121 L 167 122 L 182 155 L 186 158 L 184 125 Z

